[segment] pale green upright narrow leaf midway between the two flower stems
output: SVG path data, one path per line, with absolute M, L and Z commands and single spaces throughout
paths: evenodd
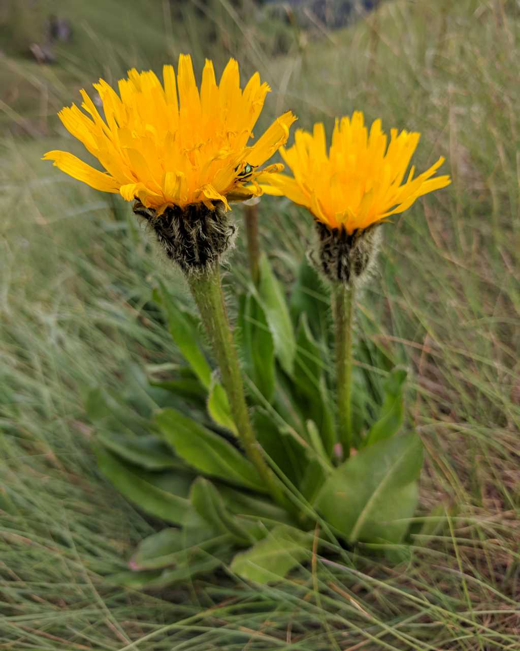
M 272 334 L 274 350 L 281 367 L 292 376 L 296 339 L 292 328 L 291 316 L 281 286 L 272 273 L 265 254 L 260 258 L 259 297 L 266 320 Z

